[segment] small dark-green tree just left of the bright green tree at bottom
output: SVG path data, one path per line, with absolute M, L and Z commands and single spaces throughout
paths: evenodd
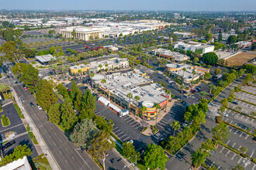
M 125 142 L 122 145 L 122 152 L 125 158 L 130 158 L 131 156 L 137 155 L 137 161 L 140 161 L 140 151 L 135 151 L 135 148 L 131 142 Z M 130 158 L 131 162 L 135 162 L 136 158 L 132 157 Z

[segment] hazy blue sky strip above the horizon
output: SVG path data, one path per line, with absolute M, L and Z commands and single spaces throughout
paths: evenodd
M 62 10 L 256 11 L 256 0 L 0 0 L 0 8 Z

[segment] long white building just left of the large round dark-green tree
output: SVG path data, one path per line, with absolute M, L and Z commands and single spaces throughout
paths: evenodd
M 185 51 L 191 50 L 192 52 L 195 52 L 195 50 L 202 50 L 202 54 L 214 51 L 214 46 L 200 42 L 177 42 L 175 48 L 184 49 Z

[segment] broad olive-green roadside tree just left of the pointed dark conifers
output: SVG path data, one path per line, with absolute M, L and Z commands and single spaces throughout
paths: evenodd
M 50 105 L 57 103 L 57 96 L 53 90 L 53 84 L 47 80 L 40 79 L 36 88 L 36 104 L 43 107 L 43 110 L 49 110 Z

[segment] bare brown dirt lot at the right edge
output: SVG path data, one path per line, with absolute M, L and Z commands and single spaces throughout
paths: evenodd
M 225 59 L 227 61 L 227 66 L 241 66 L 247 61 L 256 58 L 256 54 L 252 53 L 238 53 L 235 56 Z

